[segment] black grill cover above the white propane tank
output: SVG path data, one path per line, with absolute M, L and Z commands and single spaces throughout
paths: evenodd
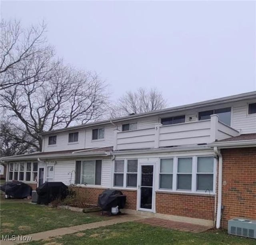
M 112 207 L 118 206 L 119 209 L 124 208 L 126 202 L 126 195 L 121 191 L 107 189 L 103 191 L 98 197 L 98 206 L 103 211 L 110 211 Z

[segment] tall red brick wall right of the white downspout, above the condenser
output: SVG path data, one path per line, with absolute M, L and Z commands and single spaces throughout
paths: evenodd
M 228 219 L 256 219 L 256 147 L 223 149 L 222 205 Z M 222 223 L 221 223 L 222 225 Z

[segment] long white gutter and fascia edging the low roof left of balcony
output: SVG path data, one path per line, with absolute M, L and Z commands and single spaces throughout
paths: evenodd
M 68 154 L 48 154 L 48 155 L 22 155 L 19 157 L 3 157 L 2 161 L 20 161 L 20 160 L 29 160 L 29 159 L 53 159 L 53 158 L 70 158 L 70 157 L 86 157 L 86 156 L 97 156 L 104 157 L 108 156 L 106 151 L 95 151 L 95 152 L 80 152 L 80 153 L 68 153 Z

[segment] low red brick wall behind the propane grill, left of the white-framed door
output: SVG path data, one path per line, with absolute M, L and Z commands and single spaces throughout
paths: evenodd
M 89 188 L 89 187 L 74 187 L 74 189 L 85 199 L 89 204 L 97 204 L 98 196 L 104 191 L 103 188 Z M 137 191 L 121 190 L 126 195 L 125 208 L 136 209 Z

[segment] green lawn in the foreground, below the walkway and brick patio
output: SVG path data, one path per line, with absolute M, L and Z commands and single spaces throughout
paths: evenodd
M 32 238 L 33 239 L 33 238 Z M 254 239 L 227 235 L 224 231 L 206 231 L 192 233 L 154 227 L 142 223 L 128 222 L 86 230 L 42 241 L 33 244 L 54 245 L 255 245 Z

